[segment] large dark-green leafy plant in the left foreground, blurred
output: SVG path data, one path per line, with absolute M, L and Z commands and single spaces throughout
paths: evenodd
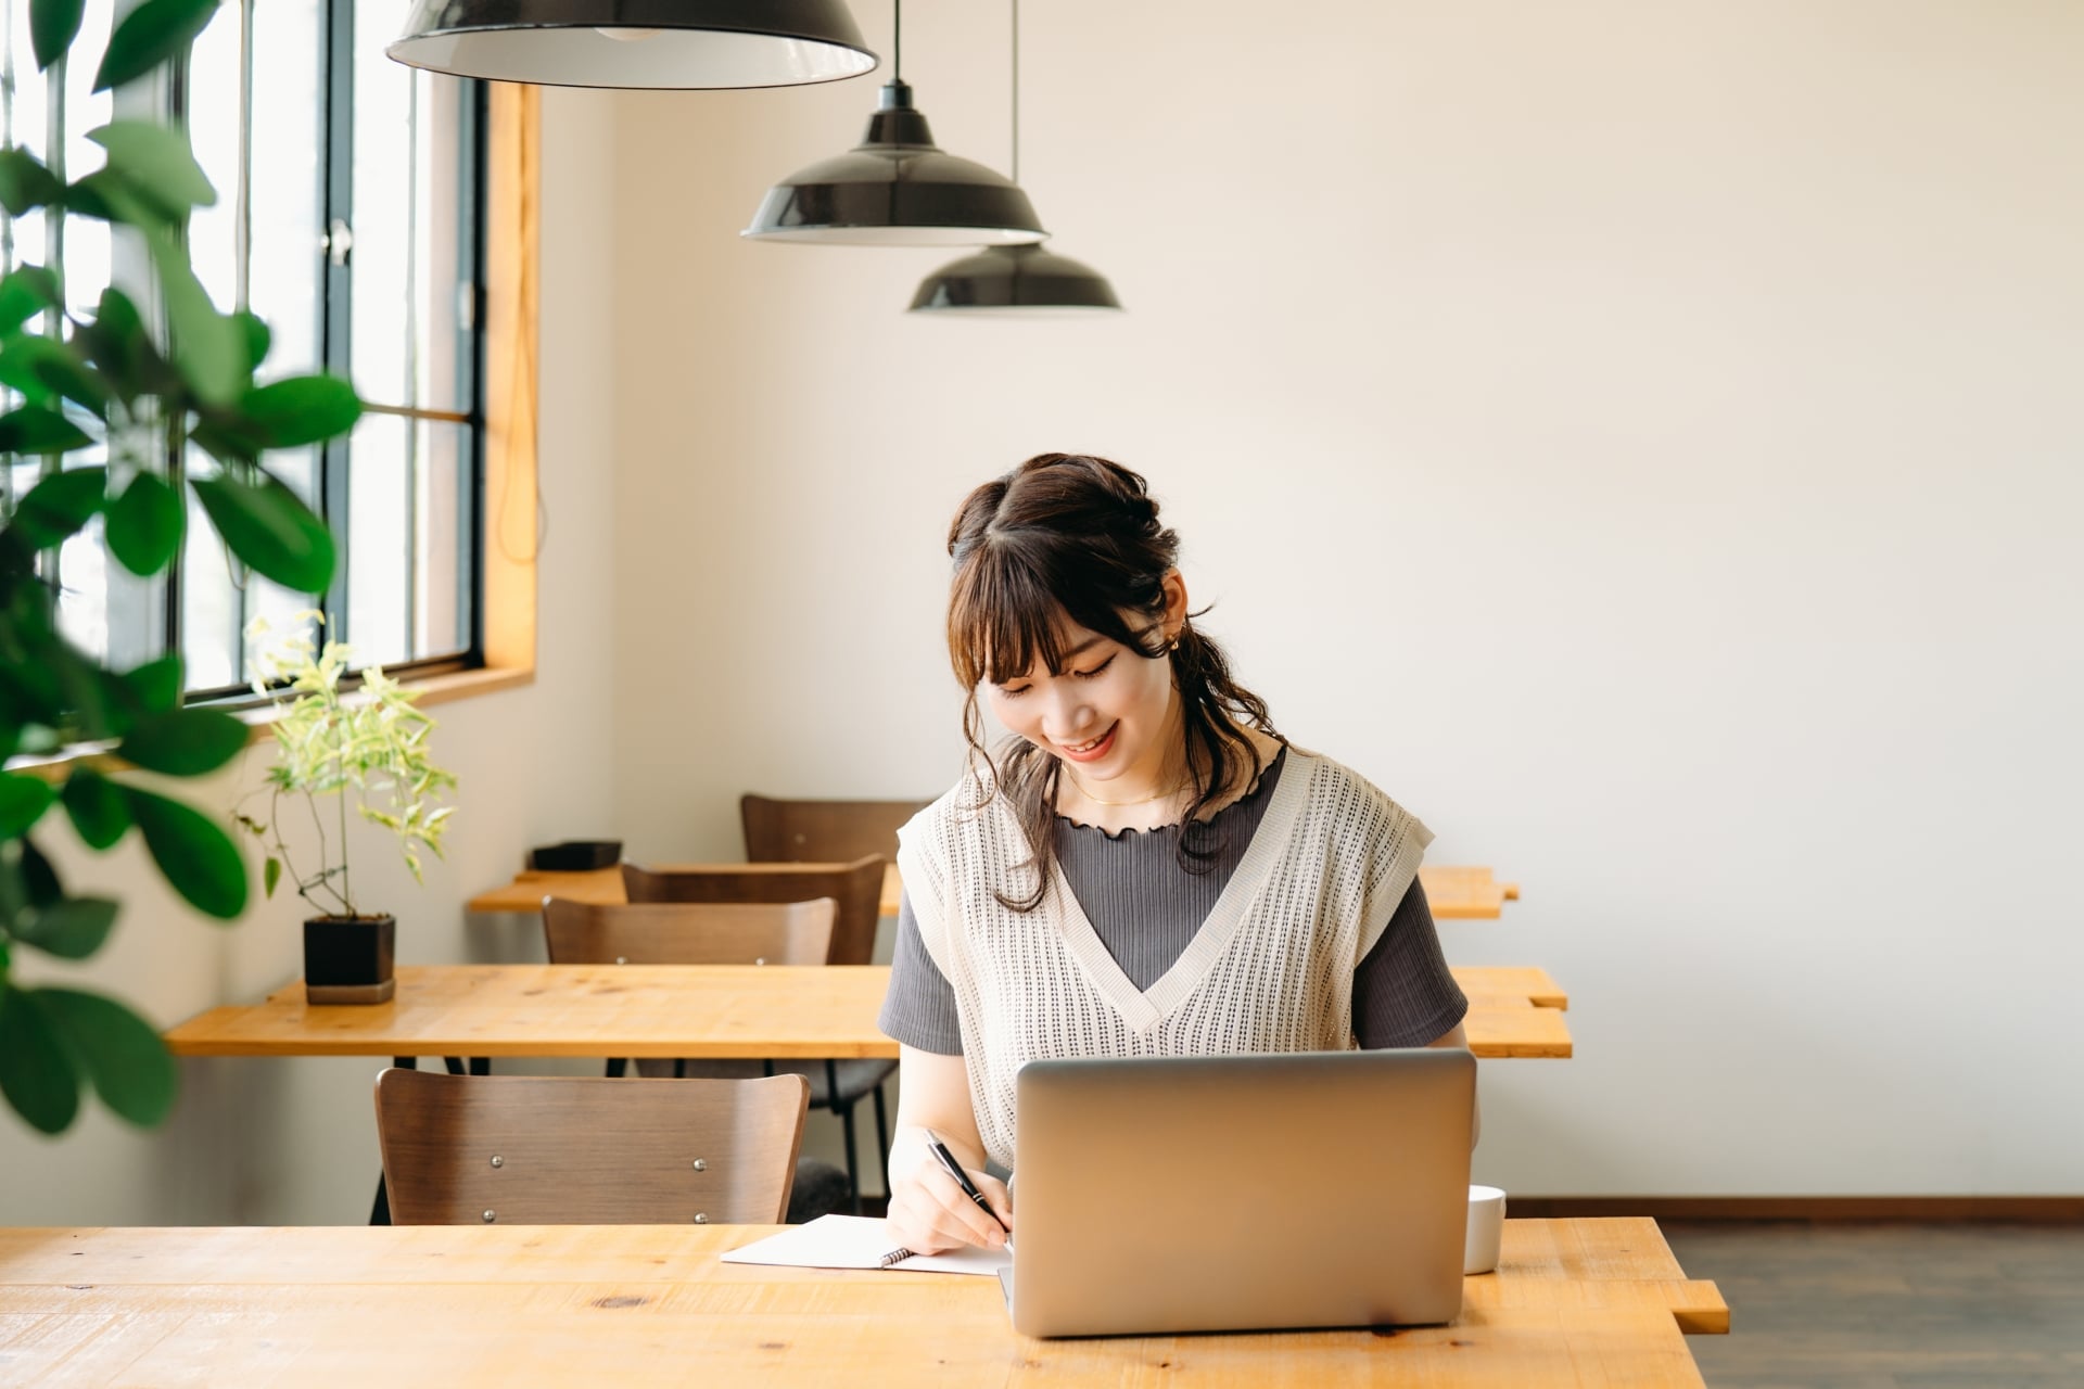
M 63 79 L 79 35 L 81 0 L 31 0 L 38 67 Z M 96 90 L 119 87 L 185 60 L 217 0 L 144 0 L 108 35 Z M 0 1093 L 35 1129 L 60 1133 L 94 1087 L 138 1125 L 173 1106 L 175 1068 L 150 1022 L 123 1004 L 15 975 L 23 950 L 63 960 L 94 956 L 119 904 L 60 881 L 38 839 L 73 833 L 108 850 L 131 829 L 167 883 L 196 910 L 229 920 L 246 910 L 246 862 L 217 816 L 108 775 L 123 764 L 200 777 L 246 743 L 246 725 L 183 708 L 177 654 L 129 671 L 104 666 L 58 631 L 44 560 L 100 516 L 108 554 L 156 575 L 181 550 L 192 491 L 225 548 L 288 589 L 323 594 L 333 579 L 325 523 L 263 458 L 346 433 L 361 402 L 346 381 L 256 381 L 267 327 L 219 312 L 190 269 L 185 223 L 217 200 L 179 129 L 115 121 L 90 137 L 106 158 L 63 179 L 21 148 L 0 150 L 0 208 L 8 217 L 85 217 L 135 235 L 150 252 L 160 312 L 106 289 L 92 317 L 67 308 L 63 267 L 21 267 L 0 279 L 0 466 L 42 464 L 0 527 L 0 756 L 46 758 L 0 773 Z M 140 296 L 142 298 L 142 296 Z M 152 325 L 165 321 L 165 329 Z M 208 477 L 183 469 L 188 446 L 217 460 Z M 65 466 L 104 450 L 106 462 Z M 54 754 L 98 752 L 48 762 Z M 56 771 L 54 771 L 56 768 Z M 56 810 L 63 806 L 63 816 Z

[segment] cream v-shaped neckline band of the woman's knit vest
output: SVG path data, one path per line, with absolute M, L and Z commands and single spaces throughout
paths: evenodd
M 1115 1012 L 1130 1025 L 1130 1031 L 1138 1035 L 1148 1033 L 1200 987 L 1200 981 L 1207 979 L 1209 968 L 1223 956 L 1223 950 L 1244 923 L 1244 912 L 1259 898 L 1259 889 L 1288 850 L 1290 831 L 1302 810 L 1302 798 L 1309 793 L 1315 766 L 1311 758 L 1298 754 L 1294 748 L 1288 748 L 1286 754 L 1288 764 L 1282 766 L 1282 777 L 1273 783 L 1273 798 L 1259 818 L 1259 829 L 1252 831 L 1252 841 L 1246 845 L 1244 858 L 1238 860 L 1230 881 L 1223 883 L 1223 891 L 1217 893 L 1215 906 L 1209 908 L 1209 914 L 1194 931 L 1194 939 L 1186 943 L 1186 950 L 1171 962 L 1171 968 L 1159 975 L 1148 989 L 1136 987 L 1136 981 L 1127 977 L 1113 952 L 1107 950 L 1107 941 L 1092 929 L 1086 908 L 1080 906 L 1077 893 L 1071 891 L 1071 881 L 1063 873 L 1063 862 L 1050 864 L 1050 887 L 1063 902 L 1063 918 L 1059 923 L 1063 941 L 1071 950 L 1071 958 L 1086 973 L 1086 979 L 1115 1006 Z

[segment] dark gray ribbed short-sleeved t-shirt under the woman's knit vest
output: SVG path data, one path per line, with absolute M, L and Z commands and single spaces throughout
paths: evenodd
M 1200 931 L 1259 831 L 1286 760 L 1284 748 L 1248 795 L 1209 820 L 1217 833 L 1196 843 L 1215 850 L 1215 858 L 1200 860 L 1205 873 L 1180 864 L 1177 827 L 1107 833 L 1057 816 L 1057 862 L 1071 895 L 1138 989 L 1155 985 Z M 1425 889 L 1413 879 L 1382 939 L 1353 970 L 1353 1033 L 1369 1050 L 1417 1047 L 1453 1029 L 1467 1012 L 1469 1000 L 1440 954 Z M 884 995 L 877 1027 L 921 1052 L 963 1052 L 954 989 L 919 939 L 911 898 L 898 908 L 890 993 Z

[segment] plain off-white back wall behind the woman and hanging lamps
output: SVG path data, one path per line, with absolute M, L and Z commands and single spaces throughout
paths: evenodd
M 615 102 L 631 850 L 944 787 L 948 514 L 1096 450 L 1282 729 L 1525 885 L 1442 937 L 1546 966 L 1578 1056 L 1486 1064 L 1480 1177 L 2078 1191 L 2084 8 L 1025 19 L 1023 183 L 1119 321 L 919 323 L 942 254 L 740 242 L 871 81 Z M 1002 8 L 907 21 L 1002 167 Z

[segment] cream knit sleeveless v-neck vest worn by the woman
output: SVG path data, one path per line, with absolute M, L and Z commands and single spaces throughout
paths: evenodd
M 1288 750 L 1259 831 L 1200 933 L 1140 991 L 1050 868 L 1034 912 L 1027 839 L 965 779 L 898 833 L 919 937 L 954 989 L 984 1147 L 1013 1166 L 1013 1075 L 1057 1056 L 1353 1047 L 1353 970 L 1411 887 L 1432 831 L 1330 758 Z

